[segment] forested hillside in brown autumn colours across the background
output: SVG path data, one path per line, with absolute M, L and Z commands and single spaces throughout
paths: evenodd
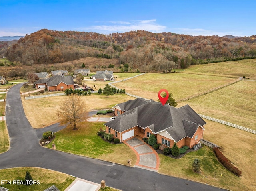
M 42 29 L 12 45 L 2 43 L 0 48 L 2 57 L 20 65 L 54 65 L 98 57 L 118 58 L 124 71 L 170 71 L 200 63 L 256 57 L 256 35 L 230 39 L 142 30 L 103 35 Z

